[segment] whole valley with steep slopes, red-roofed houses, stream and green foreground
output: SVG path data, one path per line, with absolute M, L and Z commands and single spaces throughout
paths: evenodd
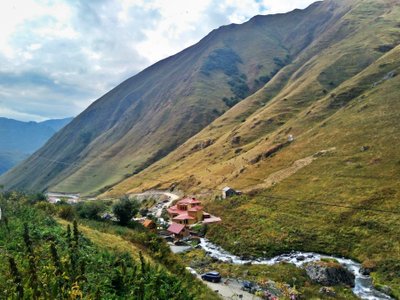
M 400 299 L 399 20 L 258 15 L 110 90 L 0 176 L 0 298 Z

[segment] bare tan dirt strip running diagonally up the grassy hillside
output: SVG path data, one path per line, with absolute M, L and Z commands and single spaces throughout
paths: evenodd
M 305 158 L 301 158 L 293 162 L 293 164 L 290 167 L 287 167 L 285 169 L 276 171 L 272 174 L 270 174 L 267 179 L 264 180 L 263 183 L 257 184 L 252 186 L 249 189 L 244 190 L 245 192 L 249 192 L 251 190 L 257 190 L 257 189 L 267 189 L 275 184 L 280 183 L 281 181 L 285 180 L 286 178 L 292 176 L 293 174 L 297 173 L 299 170 L 303 169 L 304 167 L 307 167 L 309 164 L 311 164 L 314 160 L 318 159 L 319 157 L 332 152 L 336 150 L 336 148 L 330 148 L 327 150 L 321 150 L 317 153 L 314 153 L 313 155 L 307 156 Z

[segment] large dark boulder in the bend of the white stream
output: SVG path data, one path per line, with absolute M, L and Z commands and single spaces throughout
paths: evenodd
M 335 262 L 313 262 L 308 264 L 305 269 L 312 281 L 322 285 L 344 284 L 351 287 L 355 285 L 354 274 Z

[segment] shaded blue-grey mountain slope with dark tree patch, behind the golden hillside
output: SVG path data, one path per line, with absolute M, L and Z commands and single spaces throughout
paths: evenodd
M 348 9 L 329 1 L 221 27 L 104 95 L 0 181 L 28 190 L 104 190 L 257 91 Z

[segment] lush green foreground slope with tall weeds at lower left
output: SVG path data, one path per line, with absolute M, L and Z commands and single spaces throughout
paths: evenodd
M 29 202 L 16 193 L 0 196 L 2 299 L 217 299 L 172 254 L 171 269 L 167 257 L 153 259 L 153 250 L 138 243 L 150 242 L 149 233 L 117 226 L 103 232 L 95 222 L 60 225 L 49 215 L 51 204 Z

